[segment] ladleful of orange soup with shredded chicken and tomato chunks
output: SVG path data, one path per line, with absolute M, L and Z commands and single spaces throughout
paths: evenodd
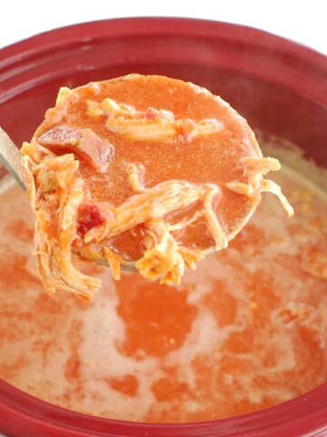
M 35 256 L 45 290 L 92 299 L 101 281 L 79 257 L 131 264 L 147 279 L 181 284 L 208 250 L 221 250 L 270 191 L 280 169 L 222 98 L 165 76 L 128 75 L 61 88 L 21 148 L 35 210 Z

